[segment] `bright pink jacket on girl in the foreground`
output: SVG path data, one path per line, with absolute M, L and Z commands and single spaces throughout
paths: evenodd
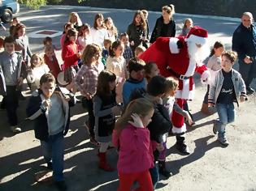
M 118 172 L 144 172 L 154 167 L 149 129 L 128 125 L 119 138 L 114 130 L 112 141 L 115 146 L 119 146 Z

